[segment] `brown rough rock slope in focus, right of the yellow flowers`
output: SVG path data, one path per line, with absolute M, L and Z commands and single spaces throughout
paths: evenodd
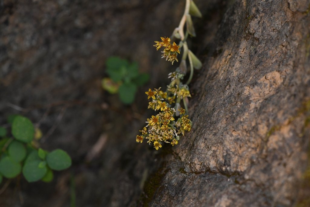
M 309 6 L 228 7 L 192 85 L 193 129 L 166 160 L 151 206 L 296 202 L 309 159 Z

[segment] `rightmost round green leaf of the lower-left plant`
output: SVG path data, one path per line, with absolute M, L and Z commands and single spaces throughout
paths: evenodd
M 46 156 L 48 166 L 53 170 L 64 170 L 71 166 L 71 158 L 67 152 L 56 149 Z

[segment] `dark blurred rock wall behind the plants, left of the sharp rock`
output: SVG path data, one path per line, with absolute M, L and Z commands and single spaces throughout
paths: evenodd
M 216 32 L 216 24 L 208 22 L 219 21 L 226 1 L 195 2 L 204 17 L 193 19 L 197 38 L 189 43 L 199 55 L 208 40 L 204 34 Z M 0 124 L 10 114 L 28 117 L 43 133 L 43 149 L 61 148 L 73 161 L 51 183 L 28 183 L 20 176 L 4 189 L 7 180 L 2 181 L 0 206 L 144 204 L 143 179 L 161 156 L 146 142 L 135 142 L 152 114 L 144 92 L 165 87 L 178 65 L 161 59 L 153 44 L 172 34 L 184 5 L 181 0 L 0 0 Z M 150 75 L 130 105 L 101 87 L 110 56 L 136 61 L 139 71 Z

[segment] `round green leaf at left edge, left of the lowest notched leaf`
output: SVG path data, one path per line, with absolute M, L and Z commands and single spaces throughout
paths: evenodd
M 21 171 L 20 163 L 6 156 L 0 160 L 0 173 L 6 178 L 14 178 Z

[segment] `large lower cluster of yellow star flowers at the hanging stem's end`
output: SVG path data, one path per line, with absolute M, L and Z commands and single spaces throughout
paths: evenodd
M 172 81 L 171 83 L 174 83 Z M 182 87 L 179 87 L 181 85 Z M 185 131 L 190 131 L 192 122 L 188 119 L 185 109 L 181 107 L 171 107 L 175 99 L 180 100 L 184 97 L 190 97 L 188 87 L 183 84 L 170 84 L 167 92 L 160 90 L 161 88 L 148 89 L 146 95 L 151 99 L 148 108 L 160 112 L 147 119 L 148 123 L 140 132 L 141 135 L 136 136 L 137 142 L 143 142 L 147 139 L 148 143 L 153 143 L 156 150 L 162 147 L 162 142 L 170 143 L 172 146 L 178 144 L 180 135 L 184 135 Z M 177 105 L 176 105 L 177 106 Z M 178 113 L 176 113 L 178 111 Z M 176 117 L 179 116 L 177 120 Z

